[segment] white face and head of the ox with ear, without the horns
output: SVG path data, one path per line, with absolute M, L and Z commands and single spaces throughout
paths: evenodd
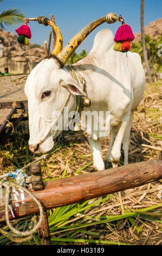
M 28 98 L 29 114 L 29 147 L 34 153 L 46 153 L 54 146 L 53 139 L 62 130 L 62 124 L 67 124 L 69 118 L 61 119 L 60 129 L 56 123 L 63 109 L 75 109 L 75 95 L 85 95 L 78 84 L 67 71 L 60 68 L 53 58 L 44 59 L 28 76 L 25 83 L 25 94 Z M 58 129 L 54 129 L 58 127 Z

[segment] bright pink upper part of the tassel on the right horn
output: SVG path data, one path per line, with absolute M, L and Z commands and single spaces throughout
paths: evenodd
M 133 41 L 135 37 L 132 32 L 132 28 L 129 25 L 125 25 L 125 23 L 122 24 L 123 25 L 120 26 L 116 31 L 114 41 Z

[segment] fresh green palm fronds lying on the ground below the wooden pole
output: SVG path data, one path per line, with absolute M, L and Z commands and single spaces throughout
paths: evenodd
M 50 235 L 51 235 L 51 242 L 53 245 L 56 245 L 56 242 L 59 242 L 57 244 L 61 245 L 61 242 L 63 244 L 65 242 L 79 242 L 79 243 L 102 243 L 102 244 L 114 244 L 114 245 L 128 245 L 128 243 L 118 243 L 113 241 L 107 241 L 107 240 L 100 240 L 100 234 L 96 232 L 90 233 L 87 228 L 100 225 L 103 223 L 112 223 L 114 221 L 120 222 L 121 220 L 128 219 L 129 222 L 132 224 L 132 226 L 135 228 L 137 233 L 139 234 L 144 227 L 144 225 L 137 225 L 135 218 L 144 218 L 144 220 L 147 221 L 154 221 L 157 223 L 162 223 L 159 217 L 161 217 L 161 214 L 158 211 L 152 211 L 154 209 L 160 208 L 161 204 L 153 205 L 147 208 L 139 209 L 138 211 L 133 211 L 130 209 L 125 209 L 124 215 L 98 215 L 98 216 L 90 216 L 91 222 L 87 222 L 89 219 L 89 216 L 87 214 L 84 214 L 84 211 L 86 209 L 92 208 L 94 205 L 99 204 L 103 202 L 103 200 L 108 200 L 111 196 L 107 196 L 103 198 L 102 200 L 98 200 L 95 203 L 88 204 L 89 200 L 83 203 L 76 203 L 74 205 L 68 205 L 68 206 L 62 206 L 60 208 L 55 209 L 53 214 L 49 217 L 49 227 L 50 227 Z M 82 214 L 81 214 L 82 213 Z M 76 217 L 77 214 L 77 217 Z M 83 222 L 84 220 L 84 222 Z M 87 221 L 86 221 L 87 220 Z M 70 224 L 70 225 L 68 225 Z M 61 233 L 66 233 L 66 238 L 61 238 Z M 94 237 L 98 237 L 98 239 L 75 239 L 75 235 L 79 233 L 86 233 L 91 234 Z

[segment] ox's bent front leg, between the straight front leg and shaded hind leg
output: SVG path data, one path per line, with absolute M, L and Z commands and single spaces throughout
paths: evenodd
M 118 162 L 121 156 L 121 144 L 125 135 L 125 131 L 129 124 L 130 116 L 127 114 L 124 119 L 122 119 L 121 124 L 118 126 L 118 131 L 115 137 L 115 141 L 109 154 L 109 159 L 112 162 L 113 168 L 118 167 Z

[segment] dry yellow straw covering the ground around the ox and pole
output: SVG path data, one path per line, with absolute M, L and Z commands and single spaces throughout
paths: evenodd
M 131 130 L 131 145 L 129 151 L 129 163 L 161 158 L 161 82 L 146 84 L 145 95 L 137 112 Z M 28 151 L 28 127 L 17 132 L 20 141 L 12 141 L 12 136 L 3 147 L 0 157 L 2 172 L 22 167 L 34 159 Z M 103 156 L 106 155 L 109 145 L 109 137 L 101 139 Z M 10 148 L 10 150 L 9 150 Z M 42 161 L 42 174 L 44 180 L 64 178 L 71 175 L 89 173 L 93 169 L 92 153 L 87 141 L 86 133 L 79 131 L 63 132 L 57 139 L 57 147 L 51 151 L 46 161 Z M 123 164 L 121 156 L 120 165 Z M 76 172 L 79 170 L 79 174 Z M 121 193 L 122 206 L 126 212 L 138 211 L 161 203 L 162 180 L 152 182 L 144 186 L 133 188 Z M 85 211 L 82 217 L 86 217 L 86 223 L 91 223 L 94 218 L 99 220 L 103 216 L 121 215 L 121 200 L 119 193 L 109 196 L 109 199 L 89 211 Z M 53 214 L 53 210 L 49 215 Z M 73 238 L 98 239 L 115 241 L 118 243 L 131 243 L 133 245 L 160 245 L 162 244 L 162 211 L 161 208 L 150 211 L 152 217 L 137 216 L 125 218 L 120 221 L 107 222 L 76 233 Z M 73 225 L 79 216 L 74 216 L 70 221 Z M 160 220 L 157 222 L 157 220 Z M 82 222 L 85 222 L 82 220 Z M 72 231 L 69 231 L 69 235 Z M 65 232 L 54 234 L 53 237 L 67 237 Z M 63 243 L 64 244 L 64 243 Z M 77 242 L 77 244 L 80 244 Z M 84 243 L 82 243 L 84 244 Z M 85 243 L 86 244 L 86 243 Z

